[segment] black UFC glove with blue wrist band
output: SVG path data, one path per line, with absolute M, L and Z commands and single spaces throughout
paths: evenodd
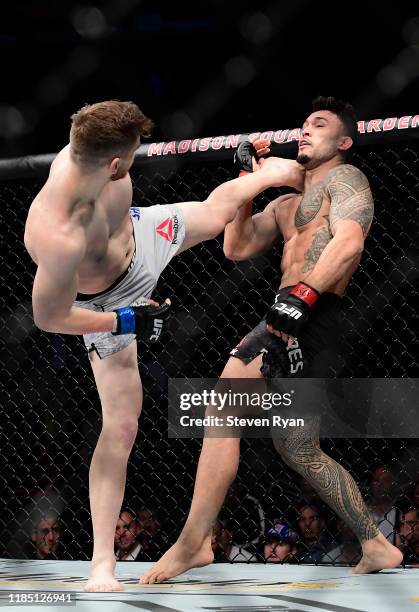
M 145 342 L 156 342 L 163 331 L 163 325 L 170 313 L 170 304 L 164 303 L 162 306 L 126 306 L 117 308 L 116 331 L 114 336 L 119 334 L 136 334 L 137 338 Z

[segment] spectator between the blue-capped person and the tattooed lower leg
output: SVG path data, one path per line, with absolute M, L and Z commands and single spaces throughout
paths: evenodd
M 298 508 L 300 541 L 297 558 L 301 563 L 318 563 L 330 548 L 325 533 L 326 521 L 320 508 L 314 504 L 302 504 Z

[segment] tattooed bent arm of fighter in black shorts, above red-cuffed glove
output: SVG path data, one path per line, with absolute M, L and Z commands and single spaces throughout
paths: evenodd
M 326 191 L 330 196 L 332 240 L 321 252 L 314 268 L 303 280 L 320 293 L 334 285 L 358 262 L 374 215 L 374 201 L 365 175 L 351 165 L 335 168 Z M 316 249 L 306 253 L 316 259 Z

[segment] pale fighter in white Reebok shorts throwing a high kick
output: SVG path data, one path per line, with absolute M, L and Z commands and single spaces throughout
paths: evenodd
M 83 334 L 102 406 L 93 454 L 93 558 L 87 591 L 117 591 L 114 536 L 142 405 L 136 336 L 158 339 L 170 310 L 150 300 L 171 258 L 222 232 L 269 186 L 301 188 L 304 169 L 272 158 L 227 181 L 203 202 L 132 206 L 129 170 L 152 122 L 132 102 L 87 105 L 72 116 L 70 143 L 52 163 L 27 218 L 37 264 L 32 303 L 47 332 Z

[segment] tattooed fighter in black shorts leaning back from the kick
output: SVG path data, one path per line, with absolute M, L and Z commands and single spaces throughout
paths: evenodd
M 281 284 L 266 317 L 231 351 L 221 378 L 327 377 L 321 355 L 339 335 L 341 298 L 358 268 L 373 220 L 373 198 L 365 175 L 345 163 L 357 135 L 353 108 L 331 97 L 313 102 L 304 121 L 296 161 L 305 168 L 302 193 L 284 195 L 252 216 L 242 206 L 224 234 L 229 259 L 261 255 L 284 242 Z M 262 171 L 269 142 L 240 145 L 238 169 Z M 245 178 L 245 177 L 243 177 Z M 326 455 L 318 427 L 275 440 L 283 461 L 304 477 L 356 534 L 363 556 L 352 573 L 396 567 L 402 554 L 381 534 L 352 476 Z M 177 542 L 141 578 L 157 583 L 191 567 L 211 563 L 211 530 L 237 474 L 239 438 L 205 437 L 195 489 Z

